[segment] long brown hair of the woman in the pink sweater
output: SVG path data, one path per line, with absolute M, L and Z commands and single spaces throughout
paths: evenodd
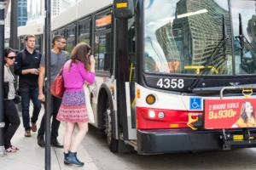
M 78 60 L 81 63 L 84 63 L 84 68 L 86 71 L 90 71 L 90 49 L 90 46 L 84 42 L 80 42 L 78 45 L 76 45 L 71 53 L 71 62 L 68 67 L 68 71 L 70 71 L 73 63 L 78 63 Z

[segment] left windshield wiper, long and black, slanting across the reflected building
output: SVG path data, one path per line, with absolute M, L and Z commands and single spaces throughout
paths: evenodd
M 216 48 L 214 48 L 214 51 L 213 53 L 211 54 L 210 58 L 208 59 L 208 61 L 206 62 L 205 65 L 203 65 L 205 67 L 205 69 L 201 70 L 200 72 L 200 75 L 199 77 L 197 77 L 195 79 L 194 82 L 191 83 L 191 86 L 189 88 L 189 91 L 193 90 L 194 88 L 198 88 L 201 84 L 201 82 L 203 81 L 203 77 L 206 77 L 207 74 L 209 73 L 210 69 L 208 69 L 208 67 L 210 65 L 215 65 L 216 63 L 218 63 L 219 61 L 219 50 L 221 48 L 226 48 L 226 42 L 228 41 L 228 37 L 225 37 L 224 40 L 221 40 L 219 43 L 218 43 L 218 46 Z

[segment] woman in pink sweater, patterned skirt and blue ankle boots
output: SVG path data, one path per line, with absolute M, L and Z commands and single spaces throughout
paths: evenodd
M 90 63 L 90 65 L 89 65 Z M 79 43 L 63 68 L 65 92 L 57 120 L 66 122 L 64 135 L 64 163 L 83 166 L 77 158 L 79 144 L 88 131 L 88 115 L 84 98 L 84 82 L 92 84 L 95 80 L 95 59 L 90 55 L 90 46 Z M 79 132 L 72 141 L 75 123 L 79 124 Z

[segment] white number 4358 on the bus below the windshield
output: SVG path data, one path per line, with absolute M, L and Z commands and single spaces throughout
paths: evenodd
M 159 81 L 156 83 L 156 86 L 160 88 L 184 88 L 184 80 L 175 78 L 160 78 Z

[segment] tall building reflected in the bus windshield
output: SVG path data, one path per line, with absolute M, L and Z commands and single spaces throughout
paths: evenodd
M 199 10 L 207 12 L 183 17 L 173 22 L 173 29 L 183 32 L 183 48 L 190 49 L 186 50 L 188 54 L 183 54 L 184 60 L 188 62 L 186 65 L 204 65 L 218 43 L 223 40 L 224 33 L 227 37 L 231 37 L 229 11 L 220 7 L 215 1 L 180 0 L 177 3 L 177 15 Z M 223 21 L 226 32 L 223 31 Z M 231 55 L 231 51 L 231 41 L 229 41 L 225 54 Z M 224 55 L 222 48 L 218 55 Z M 224 63 L 223 60 L 219 62 Z

